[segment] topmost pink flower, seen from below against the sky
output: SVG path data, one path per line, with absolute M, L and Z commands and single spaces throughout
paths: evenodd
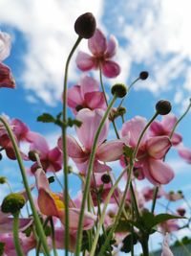
M 117 50 L 116 38 L 112 35 L 107 42 L 105 35 L 96 29 L 95 35 L 88 40 L 88 47 L 93 56 L 79 52 L 76 58 L 77 67 L 82 71 L 88 71 L 100 66 L 105 77 L 116 78 L 120 73 L 120 67 L 111 60 Z

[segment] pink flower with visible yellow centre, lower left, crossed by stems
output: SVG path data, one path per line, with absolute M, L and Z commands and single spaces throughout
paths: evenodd
M 46 216 L 54 216 L 60 219 L 62 224 L 65 223 L 65 205 L 62 193 L 53 193 L 49 187 L 48 178 L 42 169 L 35 172 L 36 185 L 38 189 L 38 207 L 40 212 Z M 70 229 L 77 230 L 80 209 L 74 207 L 73 201 L 69 204 L 69 221 Z M 85 212 L 83 229 L 88 230 L 93 227 L 96 216 Z

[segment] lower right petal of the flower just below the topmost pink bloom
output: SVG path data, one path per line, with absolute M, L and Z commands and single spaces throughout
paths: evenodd
M 89 92 L 84 95 L 85 104 L 92 110 L 96 108 L 106 109 L 105 98 L 103 92 Z

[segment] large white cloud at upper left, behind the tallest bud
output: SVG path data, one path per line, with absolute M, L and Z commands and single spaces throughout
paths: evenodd
M 55 105 L 60 98 L 64 64 L 76 40 L 76 17 L 93 12 L 99 24 L 102 4 L 102 0 L 1 1 L 0 22 L 20 31 L 28 42 L 26 68 L 21 74 L 24 86 L 47 104 Z M 73 69 L 70 74 L 74 80 Z

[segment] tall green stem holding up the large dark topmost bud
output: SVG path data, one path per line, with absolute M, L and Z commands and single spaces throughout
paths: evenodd
M 68 81 L 68 69 L 70 60 L 74 54 L 75 49 L 77 48 L 82 37 L 78 36 L 74 47 L 71 50 L 69 57 L 67 58 L 65 65 L 65 75 L 64 75 L 64 84 L 63 84 L 63 126 L 62 126 L 62 145 L 63 145 L 63 175 L 64 175 L 64 190 L 63 198 L 65 205 L 65 255 L 69 255 L 69 244 L 70 244 L 70 233 L 69 233 L 69 185 L 68 185 L 68 155 L 67 155 L 67 81 Z

